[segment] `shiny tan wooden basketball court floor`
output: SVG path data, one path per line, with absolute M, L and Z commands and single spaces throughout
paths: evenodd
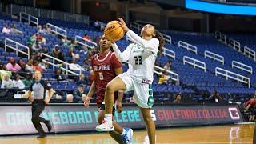
M 50 134 L 38 140 L 37 135 L 0 137 L 0 144 L 114 144 L 106 133 Z M 254 125 L 200 126 L 158 129 L 156 143 L 253 143 Z M 146 130 L 134 130 L 133 143 L 146 144 Z

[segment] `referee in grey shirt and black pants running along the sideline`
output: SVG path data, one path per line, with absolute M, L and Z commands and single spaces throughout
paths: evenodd
M 23 98 L 29 98 L 31 102 L 32 91 L 34 91 L 34 101 L 32 102 L 32 122 L 36 130 L 38 130 L 39 136 L 37 138 L 45 138 L 46 133 L 42 129 L 40 122 L 46 124 L 48 131 L 51 130 L 50 121 L 47 121 L 44 118 L 40 117 L 40 114 L 45 109 L 45 105 L 49 103 L 50 98 L 54 94 L 54 90 L 51 88 L 50 84 L 46 81 L 43 81 L 42 74 L 40 71 L 34 72 L 34 82 L 30 85 L 30 90 L 27 94 L 24 94 Z M 46 90 L 48 90 L 48 97 L 46 97 Z

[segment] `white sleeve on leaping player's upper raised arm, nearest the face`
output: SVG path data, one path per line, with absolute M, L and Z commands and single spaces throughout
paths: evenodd
M 138 36 L 138 34 L 135 34 L 132 30 L 128 30 L 126 36 L 130 38 L 132 42 L 142 46 L 142 48 L 150 50 L 155 54 L 158 53 L 159 40 L 157 38 L 152 38 L 149 41 L 146 41 L 145 39 Z

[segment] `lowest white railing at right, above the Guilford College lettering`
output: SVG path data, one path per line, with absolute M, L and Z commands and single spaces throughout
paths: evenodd
M 236 74 L 229 70 L 224 70 L 222 68 L 216 67 L 215 75 L 217 76 L 218 74 L 226 77 L 226 79 L 230 78 L 230 79 L 236 80 L 238 82 L 246 83 L 246 84 L 248 84 L 248 87 L 250 88 L 250 78 L 247 78 L 240 74 Z

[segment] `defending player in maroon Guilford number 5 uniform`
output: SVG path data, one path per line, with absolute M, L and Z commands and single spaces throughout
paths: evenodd
M 99 41 L 100 51 L 91 58 L 91 66 L 94 70 L 94 81 L 90 86 L 89 93 L 87 94 L 84 106 L 88 107 L 90 98 L 96 92 L 96 103 L 98 107 L 98 123 L 101 124 L 105 116 L 105 103 L 104 96 L 106 85 L 115 78 L 118 74 L 122 74 L 122 63 L 115 57 L 114 52 L 110 50 L 111 42 L 108 41 L 105 35 Z M 116 107 L 118 112 L 122 111 L 122 97 L 123 92 L 115 93 L 117 98 Z M 114 107 L 113 107 L 114 109 Z M 113 113 L 114 114 L 114 113 Z M 118 129 L 118 127 L 120 127 Z M 122 130 L 121 126 L 114 126 L 115 130 Z M 118 131 L 111 131 L 109 134 L 118 143 L 123 143 L 120 133 Z

